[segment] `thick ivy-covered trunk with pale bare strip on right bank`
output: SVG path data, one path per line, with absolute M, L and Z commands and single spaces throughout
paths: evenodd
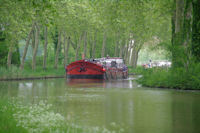
M 193 2 L 175 0 L 175 7 L 172 18 L 172 66 L 187 69 L 191 61 Z

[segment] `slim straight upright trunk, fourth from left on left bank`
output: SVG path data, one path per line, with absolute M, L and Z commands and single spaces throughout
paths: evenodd
M 43 59 L 43 69 L 46 69 L 46 60 L 47 60 L 47 45 L 48 45 L 48 29 L 47 26 L 45 26 L 45 31 L 44 31 L 44 38 L 45 38 L 45 42 L 44 42 L 44 59 Z

